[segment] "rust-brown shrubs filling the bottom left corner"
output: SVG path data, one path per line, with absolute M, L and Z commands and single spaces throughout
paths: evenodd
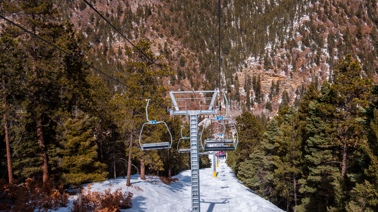
M 56 188 L 52 181 L 45 186 L 30 178 L 20 185 L 9 185 L 0 181 L 0 211 L 34 212 L 56 210 L 66 207 L 68 194 L 63 186 Z

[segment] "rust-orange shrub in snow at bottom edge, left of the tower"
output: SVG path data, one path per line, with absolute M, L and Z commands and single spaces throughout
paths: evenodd
M 83 190 L 82 197 L 82 211 L 83 212 L 116 212 L 118 209 L 128 209 L 131 208 L 131 198 L 133 193 L 124 192 L 122 193 L 122 188 L 118 188 L 113 193 L 111 193 L 110 186 L 108 189 L 100 191 L 91 191 L 91 185 L 88 185 L 86 189 Z M 79 211 L 79 202 L 76 200 L 74 202 L 73 211 Z

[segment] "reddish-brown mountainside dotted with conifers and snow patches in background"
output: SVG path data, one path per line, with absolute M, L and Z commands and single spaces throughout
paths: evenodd
M 194 90 L 219 87 L 218 1 L 92 3 L 128 39 L 153 41 L 153 52 L 164 55 L 185 85 Z M 88 59 L 117 72 L 125 39 L 84 2 L 57 5 L 88 43 Z M 302 90 L 311 81 L 330 79 L 335 62 L 347 54 L 360 61 L 363 76 L 374 78 L 377 23 L 375 0 L 221 1 L 221 89 L 236 100 L 235 108 L 272 116 L 284 90 L 289 104 L 298 105 Z M 170 90 L 185 90 L 173 84 L 178 83 L 171 80 Z

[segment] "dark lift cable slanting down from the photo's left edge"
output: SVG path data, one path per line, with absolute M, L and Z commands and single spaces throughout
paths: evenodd
M 99 69 L 93 67 L 92 65 L 88 64 L 87 62 L 84 62 L 84 61 L 80 60 L 79 58 L 77 58 L 77 57 L 71 55 L 70 53 L 64 51 L 63 49 L 59 48 L 59 47 L 56 46 L 56 45 L 51 44 L 51 43 L 48 42 L 47 40 L 45 40 L 45 39 L 39 37 L 38 35 L 32 33 L 31 31 L 29 31 L 29 30 L 27 30 L 27 29 L 21 27 L 20 25 L 18 25 L 18 24 L 16 24 L 15 22 L 13 22 L 13 21 L 7 19 L 6 17 L 0 15 L 0 18 L 2 18 L 2 19 L 4 19 L 4 20 L 8 21 L 8 22 L 11 23 L 12 25 L 14 25 L 14 26 L 16 26 L 17 28 L 19 28 L 19 29 L 21 29 L 21 30 L 23 30 L 23 31 L 25 31 L 25 32 L 27 32 L 27 33 L 29 33 L 30 35 L 32 35 L 32 36 L 38 38 L 39 40 L 41 40 L 41 41 L 47 43 L 48 45 L 51 45 L 52 47 L 54 47 L 54 48 L 60 50 L 61 52 L 63 52 L 64 54 L 70 56 L 71 58 L 73 58 L 73 59 L 75 59 L 75 60 L 77 60 L 77 61 L 82 62 L 83 64 L 85 64 L 85 65 L 87 65 L 88 67 L 94 69 L 95 71 L 97 71 L 97 72 L 99 72 L 99 73 L 101 73 L 101 74 L 103 74 L 103 75 L 109 77 L 111 80 L 118 82 L 119 84 L 125 86 L 126 88 L 128 88 L 128 89 L 130 89 L 130 90 L 133 90 L 132 88 L 130 88 L 129 86 L 127 86 L 125 83 L 122 83 L 122 82 L 119 81 L 118 79 L 116 79 L 116 78 L 114 78 L 114 77 L 112 77 L 112 76 L 109 76 L 109 75 L 105 74 L 104 72 L 102 72 L 102 71 L 100 71 Z M 140 92 L 138 92 L 138 91 L 135 91 L 135 92 L 137 92 L 138 94 L 142 95 L 143 97 L 145 97 L 145 98 L 147 98 L 147 99 L 150 99 L 150 97 L 147 97 L 147 96 L 145 96 L 144 94 L 142 94 L 142 93 L 140 93 Z M 152 101 L 157 102 L 160 106 L 164 106 L 165 108 L 168 108 L 168 106 L 166 106 L 166 105 L 160 103 L 160 102 L 157 101 L 157 100 L 152 100 Z

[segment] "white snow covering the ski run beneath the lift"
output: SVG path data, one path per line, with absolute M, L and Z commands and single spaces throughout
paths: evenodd
M 210 154 L 209 158 L 211 160 L 213 155 Z M 94 183 L 92 190 L 105 190 L 112 184 L 112 191 L 120 187 L 123 192 L 131 191 L 134 194 L 132 208 L 120 211 L 190 212 L 190 170 L 182 171 L 174 177 L 178 181 L 166 185 L 158 177 L 146 176 L 146 181 L 142 181 L 140 175 L 132 175 L 130 187 L 126 186 L 126 178 L 119 177 L 116 180 Z M 69 207 L 72 207 L 76 198 L 77 196 L 71 196 L 68 207 L 60 208 L 57 212 L 69 212 Z M 200 169 L 200 200 L 201 211 L 204 212 L 283 212 L 237 181 L 224 159 L 217 167 L 216 178 L 212 167 Z

